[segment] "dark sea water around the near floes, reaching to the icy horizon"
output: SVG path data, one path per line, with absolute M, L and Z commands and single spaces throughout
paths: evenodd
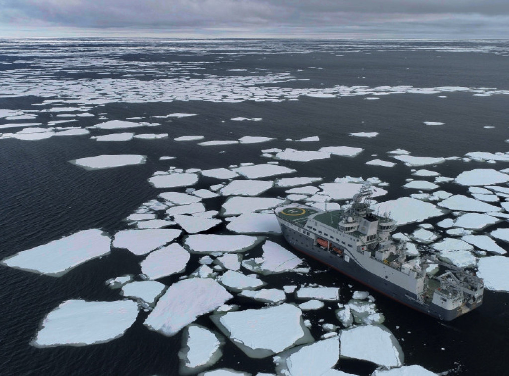
M 54 103 L 43 102 L 48 100 L 60 100 L 55 103 L 63 107 L 86 108 L 82 112 L 94 115 L 75 117 L 76 121 L 54 127 L 86 128 L 128 117 L 142 117 L 132 121 L 160 123 L 157 127 L 134 130 L 91 130 L 90 136 L 39 141 L 0 139 L 1 259 L 83 229 L 100 228 L 112 235 L 128 228 L 124 219 L 140 204 L 172 190 L 156 189 L 147 182 L 157 170 L 164 171 L 169 166 L 228 168 L 240 163 L 274 161 L 262 156 L 262 149 L 363 148 L 355 158 L 333 155 L 311 162 L 280 161 L 280 165 L 297 170 L 288 176 L 320 176 L 322 182 L 347 175 L 377 176 L 389 183 L 384 187 L 387 195 L 377 198 L 378 201 L 417 193 L 402 187 L 405 179 L 414 177 L 412 168 L 427 168 L 442 176 L 456 177 L 462 171 L 476 168 L 509 167 L 504 162 L 488 164 L 461 159 L 436 166 L 408 167 L 387 154 L 402 148 L 417 156 L 463 158 L 473 151 L 509 151 L 505 141 L 509 139 L 507 42 L 0 40 L 0 79 L 0 109 L 35 115 L 33 119 L 0 118 L 0 127 L 40 122 L 38 127 L 44 128 L 51 127 L 50 121 L 65 119 L 56 116 L 59 112 L 42 112 L 54 107 Z M 404 88 L 394 89 L 397 86 Z M 254 89 L 261 90 L 258 96 L 249 95 Z M 331 92 L 334 98 L 309 96 Z M 483 96 L 476 95 L 479 93 Z M 370 97 L 379 99 L 366 99 Z M 197 115 L 153 117 L 175 112 Z M 231 120 L 238 116 L 263 120 Z M 166 121 L 169 119 L 172 121 Z M 424 121 L 445 124 L 427 126 Z M 167 133 L 168 137 L 128 142 L 90 139 L 121 132 Z M 379 135 L 349 136 L 353 132 Z M 195 135 L 204 136 L 203 141 L 238 140 L 244 136 L 275 140 L 222 146 L 174 141 L 177 137 Z M 320 141 L 286 141 L 309 136 L 318 136 Z M 101 154 L 146 155 L 147 162 L 103 170 L 85 170 L 67 162 Z M 176 159 L 159 161 L 162 155 Z M 398 163 L 392 168 L 365 165 L 375 158 Z M 192 187 L 208 189 L 219 181 L 201 176 Z M 185 190 L 186 187 L 174 189 Z M 469 196 L 468 187 L 454 181 L 440 183 L 439 190 Z M 279 196 L 285 196 L 285 189 L 273 187 L 263 194 Z M 207 209 L 219 210 L 223 202 L 224 198 L 208 200 Z M 425 223 L 435 225 L 445 217 L 431 218 Z M 226 224 L 207 233 L 230 233 Z M 503 221 L 476 234 L 507 227 Z M 416 228 L 417 224 L 410 224 L 398 231 L 411 233 Z M 444 230 L 435 229 L 447 236 Z M 267 238 L 285 245 L 281 236 Z M 508 248 L 502 241 L 497 243 Z M 261 246 L 250 250 L 248 256 L 260 254 Z M 0 373 L 179 374 L 177 353 L 182 347 L 181 333 L 165 337 L 147 330 L 143 322 L 148 312 L 144 311 L 140 311 L 122 337 L 108 343 L 46 349 L 30 345 L 43 318 L 61 302 L 122 299 L 119 290 L 108 288 L 105 281 L 139 274 L 139 262 L 143 259 L 126 249 L 113 248 L 110 255 L 84 263 L 62 277 L 1 266 Z M 198 259 L 191 256 L 186 274 L 199 266 Z M 353 291 L 365 289 L 313 260 L 305 262 L 312 270 L 307 275 L 284 273 L 261 278 L 272 288 L 310 283 L 337 286 L 344 303 Z M 181 275 L 159 281 L 169 286 Z M 485 291 L 482 306 L 447 324 L 371 293 L 386 318 L 384 325 L 401 344 L 405 364 L 419 364 L 450 375 L 509 374 L 507 293 Z M 239 304 L 242 309 L 264 305 L 239 298 L 229 303 Z M 326 302 L 326 307 L 304 313 L 304 318 L 314 324 L 315 339 L 323 334 L 319 320 L 341 325 L 334 317 L 335 308 L 335 302 Z M 216 330 L 207 315 L 196 323 Z M 271 357 L 250 359 L 228 341 L 222 358 L 211 369 L 220 367 L 252 374 L 274 372 Z M 376 365 L 340 359 L 336 368 L 369 375 Z

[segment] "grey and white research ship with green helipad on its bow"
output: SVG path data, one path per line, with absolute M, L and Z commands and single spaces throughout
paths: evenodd
M 483 302 L 484 284 L 473 271 L 436 255 L 406 255 L 406 242 L 394 240 L 396 222 L 375 213 L 373 191 L 361 185 L 345 210 L 291 204 L 275 210 L 282 235 L 297 250 L 407 306 L 451 321 Z M 430 264 L 438 264 L 435 275 Z

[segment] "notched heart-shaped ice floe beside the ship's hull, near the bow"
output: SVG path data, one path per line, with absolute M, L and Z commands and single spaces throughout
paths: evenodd
M 292 271 L 300 264 L 302 264 L 302 260 L 285 247 L 271 240 L 267 240 L 263 245 L 263 256 L 261 258 L 242 262 L 244 268 L 265 275 Z

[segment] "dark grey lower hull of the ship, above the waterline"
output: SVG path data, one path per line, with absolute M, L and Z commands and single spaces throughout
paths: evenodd
M 281 225 L 282 234 L 286 240 L 299 252 L 330 266 L 331 268 L 359 281 L 360 283 L 376 290 L 389 298 L 414 308 L 424 314 L 443 321 L 451 321 L 463 315 L 467 311 L 475 308 L 475 305 L 465 308 L 456 308 L 447 310 L 437 304 L 425 304 L 418 301 L 415 294 L 394 285 L 379 276 L 367 272 L 360 267 L 354 260 L 345 261 L 343 257 L 338 256 L 333 250 L 327 250 L 321 246 L 314 245 L 313 240 L 304 234 L 297 232 L 291 228 Z M 354 259 L 352 256 L 351 259 Z

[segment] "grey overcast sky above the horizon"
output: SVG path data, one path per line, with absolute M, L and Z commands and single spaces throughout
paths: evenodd
M 509 0 L 0 0 L 0 37 L 507 39 Z

